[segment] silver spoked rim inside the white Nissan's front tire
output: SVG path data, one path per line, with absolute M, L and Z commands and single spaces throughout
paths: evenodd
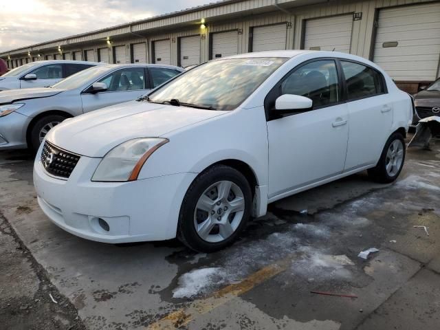
M 194 225 L 203 241 L 219 243 L 234 234 L 245 212 L 241 188 L 232 181 L 219 181 L 206 189 L 197 201 Z

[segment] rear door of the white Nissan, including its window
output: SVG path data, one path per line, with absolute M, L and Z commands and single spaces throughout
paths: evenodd
M 347 86 L 349 145 L 344 171 L 376 164 L 393 125 L 393 102 L 380 72 L 362 63 L 340 61 Z

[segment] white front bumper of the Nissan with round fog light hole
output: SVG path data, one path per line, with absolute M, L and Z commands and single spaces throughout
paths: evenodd
M 104 243 L 159 241 L 176 236 L 181 201 L 197 174 L 179 173 L 131 182 L 92 182 L 100 159 L 82 156 L 69 179 L 34 163 L 34 186 L 43 212 L 76 236 Z M 100 219 L 109 225 L 104 230 Z

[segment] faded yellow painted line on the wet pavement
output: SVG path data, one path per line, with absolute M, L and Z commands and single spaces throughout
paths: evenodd
M 231 299 L 245 294 L 256 285 L 259 285 L 268 279 L 287 270 L 292 261 L 292 255 L 281 259 L 272 265 L 261 268 L 261 270 L 251 274 L 240 283 L 228 285 L 214 292 L 212 296 L 195 300 L 186 307 L 164 316 L 157 322 L 152 323 L 146 329 L 148 330 L 171 330 L 182 325 L 187 325 L 191 320 L 206 314 L 213 309 L 228 303 Z

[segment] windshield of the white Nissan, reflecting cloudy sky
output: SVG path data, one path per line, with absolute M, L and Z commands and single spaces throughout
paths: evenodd
M 210 61 L 178 76 L 148 95 L 151 102 L 232 110 L 287 58 L 227 58 Z M 178 102 L 176 102 L 178 100 Z

